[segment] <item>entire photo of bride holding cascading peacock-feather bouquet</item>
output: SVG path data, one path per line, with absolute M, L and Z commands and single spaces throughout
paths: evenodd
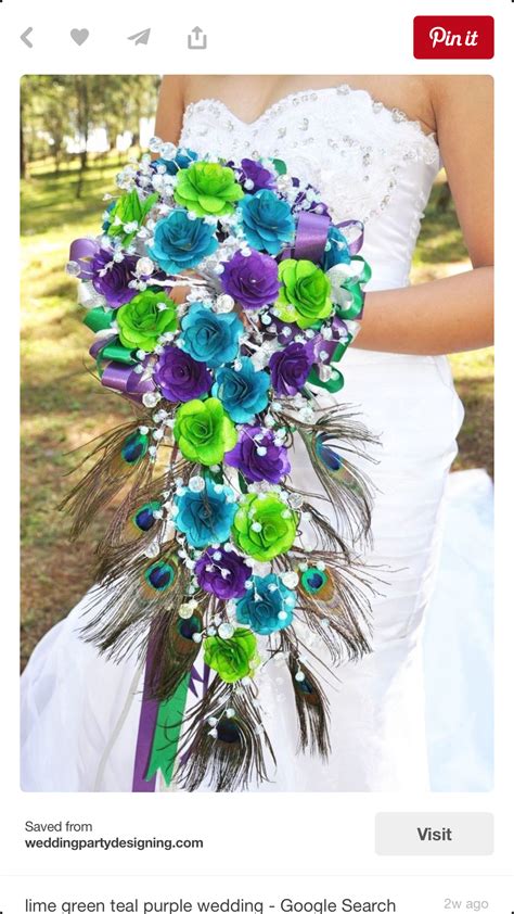
M 23 78 L 22 789 L 491 789 L 492 96 Z

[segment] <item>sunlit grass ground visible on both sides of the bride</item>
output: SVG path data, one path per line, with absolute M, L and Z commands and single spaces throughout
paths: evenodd
M 76 305 L 76 280 L 63 271 L 70 240 L 98 231 L 102 196 L 118 164 L 92 163 L 82 200 L 75 200 L 77 172 L 55 177 L 42 165 L 22 187 L 22 660 L 42 634 L 66 615 L 92 584 L 92 545 L 69 545 L 68 523 L 57 505 L 69 490 L 65 474 L 77 462 L 73 448 L 119 422 L 130 407 L 104 391 L 88 372 L 90 331 Z M 437 212 L 436 186 L 423 223 L 413 279 L 458 271 L 465 250 L 452 207 Z M 492 469 L 492 351 L 451 357 L 466 407 L 455 469 Z

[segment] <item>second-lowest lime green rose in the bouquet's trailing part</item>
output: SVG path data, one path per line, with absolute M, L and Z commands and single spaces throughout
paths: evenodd
M 246 495 L 234 517 L 235 545 L 257 561 L 270 561 L 291 549 L 298 520 L 278 495 Z

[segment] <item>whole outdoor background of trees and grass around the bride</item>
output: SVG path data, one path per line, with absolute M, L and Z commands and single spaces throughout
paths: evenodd
M 85 82 L 86 114 L 80 111 Z M 65 137 L 105 126 L 113 145 L 116 134 L 126 129 L 138 139 L 139 118 L 155 113 L 157 85 L 149 76 L 30 76 L 22 82 L 23 661 L 92 584 L 102 518 L 87 538 L 70 545 L 67 520 L 56 510 L 70 486 L 66 473 L 77 464 L 69 452 L 129 412 L 89 373 L 90 332 L 77 309 L 76 281 L 64 272 L 70 240 L 98 232 L 102 196 L 112 191 L 120 160 L 114 150 L 70 156 Z M 412 279 L 437 279 L 466 266 L 442 175 L 423 221 Z M 451 356 L 451 363 L 466 408 L 454 469 L 486 467 L 491 472 L 492 351 Z

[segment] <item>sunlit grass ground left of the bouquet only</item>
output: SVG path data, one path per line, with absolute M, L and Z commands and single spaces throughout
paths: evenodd
M 91 333 L 77 312 L 77 283 L 63 270 L 69 241 L 98 231 L 102 195 L 117 166 L 92 167 L 83 200 L 76 175 L 36 175 L 22 189 L 22 659 L 92 583 L 91 536 L 69 545 L 57 505 L 77 464 L 73 448 L 117 423 L 128 404 L 91 377 Z M 65 341 L 65 342 L 63 342 Z

